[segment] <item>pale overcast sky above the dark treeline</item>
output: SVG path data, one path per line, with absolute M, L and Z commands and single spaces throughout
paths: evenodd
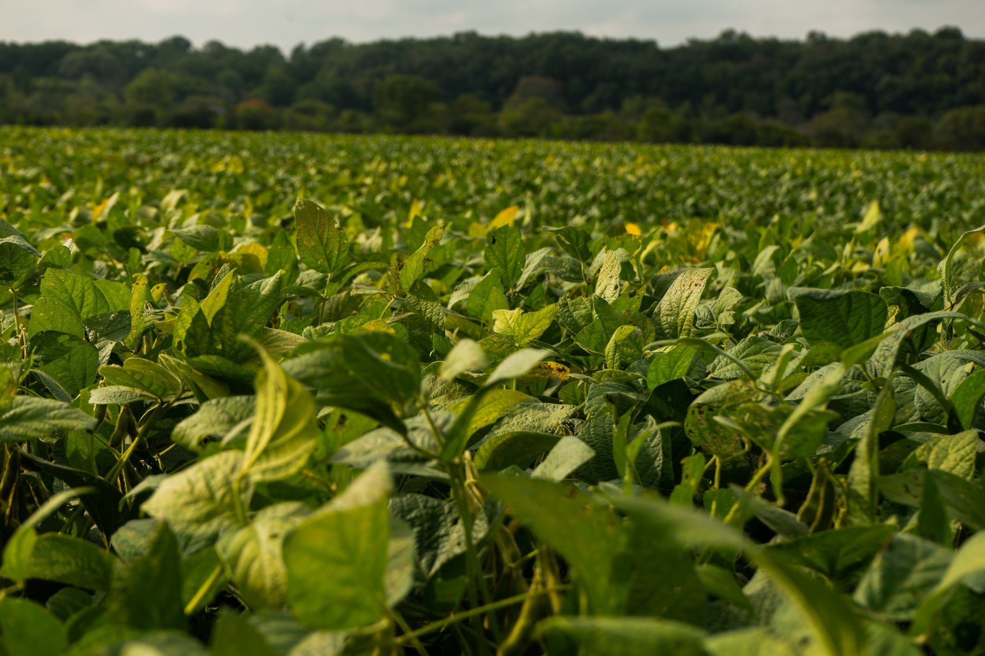
M 368 41 L 472 30 L 578 30 L 671 46 L 726 28 L 803 38 L 811 30 L 850 36 L 944 25 L 985 36 L 985 0 L 0 0 L 0 40 L 157 41 L 181 34 L 197 45 L 218 38 L 286 50 L 330 36 Z

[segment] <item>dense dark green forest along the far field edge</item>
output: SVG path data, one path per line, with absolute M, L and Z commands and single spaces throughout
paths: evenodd
M 985 40 L 0 42 L 0 122 L 980 150 Z

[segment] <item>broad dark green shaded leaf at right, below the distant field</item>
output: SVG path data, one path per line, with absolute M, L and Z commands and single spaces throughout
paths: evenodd
M 804 288 L 792 288 L 788 294 L 811 344 L 829 342 L 847 349 L 879 335 L 886 325 L 886 301 L 875 294 Z

